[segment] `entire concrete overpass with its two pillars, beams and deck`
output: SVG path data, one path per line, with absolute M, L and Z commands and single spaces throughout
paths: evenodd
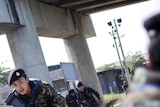
M 102 94 L 86 42 L 95 36 L 89 14 L 143 1 L 147 0 L 0 0 L 0 34 L 7 35 L 15 66 L 49 83 L 38 36 L 62 38 L 80 81 Z

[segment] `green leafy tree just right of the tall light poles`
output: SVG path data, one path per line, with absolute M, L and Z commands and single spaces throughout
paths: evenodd
M 141 53 L 135 53 L 134 55 L 130 56 L 129 61 L 126 62 L 127 66 L 129 67 L 130 71 L 134 71 L 137 67 L 143 66 L 145 64 L 145 59 Z

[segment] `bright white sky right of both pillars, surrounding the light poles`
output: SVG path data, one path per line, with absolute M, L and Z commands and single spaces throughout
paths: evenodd
M 138 3 L 91 15 L 97 36 L 87 39 L 87 42 L 95 67 L 118 61 L 116 49 L 113 48 L 113 37 L 109 34 L 111 27 L 107 24 L 110 21 L 114 24 L 114 19 L 122 19 L 118 31 L 120 36 L 124 35 L 121 38 L 121 43 L 125 56 L 136 51 L 147 52 L 149 41 L 143 28 L 143 22 L 146 18 L 160 11 L 160 7 L 155 1 Z

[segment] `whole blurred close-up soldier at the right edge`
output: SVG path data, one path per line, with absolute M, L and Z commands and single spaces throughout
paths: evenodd
M 149 64 L 137 68 L 133 84 L 121 107 L 160 107 L 160 13 L 144 22 L 150 44 Z

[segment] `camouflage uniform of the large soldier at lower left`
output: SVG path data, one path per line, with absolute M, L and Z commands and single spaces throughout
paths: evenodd
M 39 84 L 36 87 L 37 82 Z M 30 80 L 32 90 L 31 96 L 21 95 L 17 91 L 14 94 L 26 107 L 64 107 L 65 100 L 62 99 L 51 85 L 40 80 Z M 36 87 L 36 89 L 34 89 Z

